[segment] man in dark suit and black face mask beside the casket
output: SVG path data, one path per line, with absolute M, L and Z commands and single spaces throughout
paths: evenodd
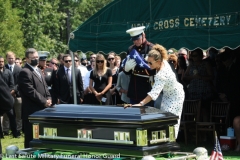
M 28 116 L 52 105 L 51 95 L 48 91 L 44 76 L 37 67 L 39 62 L 38 52 L 29 48 L 25 52 L 26 64 L 18 76 L 18 87 L 22 97 L 22 120 L 24 125 L 25 148 L 33 139 L 32 124 Z

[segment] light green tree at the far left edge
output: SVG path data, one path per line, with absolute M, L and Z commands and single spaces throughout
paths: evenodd
M 25 48 L 18 10 L 12 8 L 10 0 L 0 0 L 0 15 L 0 54 L 13 51 L 22 57 Z

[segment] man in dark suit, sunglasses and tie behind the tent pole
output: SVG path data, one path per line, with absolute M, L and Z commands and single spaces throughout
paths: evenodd
M 56 93 L 58 103 L 73 104 L 72 58 L 69 54 L 63 56 L 64 66 L 59 68 L 56 75 Z M 83 82 L 79 69 L 75 68 L 77 104 L 83 102 Z

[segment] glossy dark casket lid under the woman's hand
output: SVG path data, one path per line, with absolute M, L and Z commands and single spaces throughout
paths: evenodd
M 106 121 L 143 121 L 149 120 L 177 120 L 178 116 L 159 110 L 154 107 L 131 107 L 124 109 L 118 106 L 101 105 L 73 105 L 60 104 L 53 108 L 46 108 L 37 111 L 29 116 L 29 119 L 36 118 L 59 118 L 76 120 L 106 120 Z

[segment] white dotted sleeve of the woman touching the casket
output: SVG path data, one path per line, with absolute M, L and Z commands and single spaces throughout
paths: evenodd
M 155 101 L 166 83 L 166 77 L 163 77 L 161 74 L 156 74 L 154 79 L 155 82 L 152 86 L 152 90 L 148 92 L 148 95 Z

